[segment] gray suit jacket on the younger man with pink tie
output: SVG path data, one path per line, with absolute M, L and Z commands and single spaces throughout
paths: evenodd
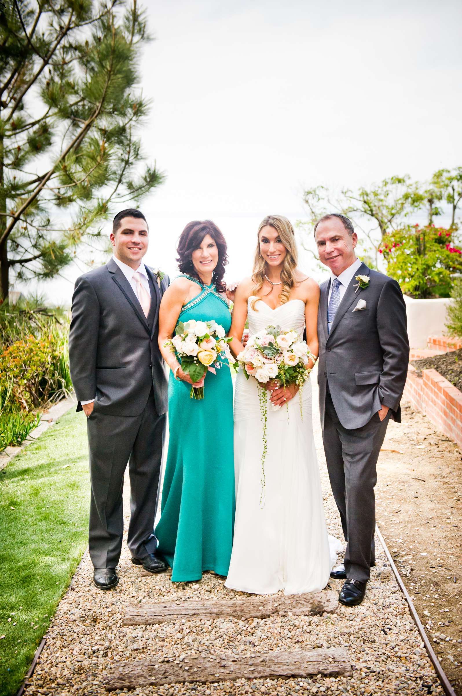
M 151 289 L 148 317 L 112 258 L 106 266 L 76 280 L 69 361 L 78 411 L 81 401 L 94 399 L 94 411 L 111 416 L 139 416 L 153 385 L 158 416 L 167 411 L 167 379 L 158 347 L 158 313 L 170 281 L 165 276 L 159 288 L 151 269 L 146 269 Z

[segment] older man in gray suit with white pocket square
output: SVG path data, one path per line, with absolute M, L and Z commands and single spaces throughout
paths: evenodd
M 363 601 L 374 565 L 377 459 L 388 420 L 401 421 L 409 342 L 406 305 L 392 278 L 356 258 L 352 222 L 330 214 L 315 225 L 320 260 L 331 278 L 320 287 L 317 335 L 322 439 L 329 479 L 347 541 L 338 596 Z M 358 278 L 363 276 L 363 278 Z

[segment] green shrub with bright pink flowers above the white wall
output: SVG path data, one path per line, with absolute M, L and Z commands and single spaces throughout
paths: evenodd
M 383 237 L 379 252 L 387 273 L 411 297 L 449 297 L 455 273 L 462 271 L 462 249 L 454 228 L 407 226 Z

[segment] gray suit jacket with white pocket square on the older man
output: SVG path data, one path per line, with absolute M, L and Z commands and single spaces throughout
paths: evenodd
M 364 263 L 358 274 L 370 283 L 355 292 L 357 281 L 347 287 L 331 332 L 327 333 L 327 300 L 331 280 L 320 286 L 317 337 L 320 355 L 317 372 L 321 425 L 327 384 L 337 416 L 347 429 L 363 427 L 381 404 L 391 418 L 401 420 L 401 401 L 409 363 L 406 305 L 396 280 L 370 270 Z M 357 275 L 357 274 L 356 274 Z M 356 310 L 359 299 L 366 308 Z

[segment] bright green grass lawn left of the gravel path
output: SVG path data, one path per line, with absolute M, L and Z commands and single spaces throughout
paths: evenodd
M 17 692 L 87 546 L 87 447 L 83 414 L 67 413 L 0 472 L 0 696 Z

